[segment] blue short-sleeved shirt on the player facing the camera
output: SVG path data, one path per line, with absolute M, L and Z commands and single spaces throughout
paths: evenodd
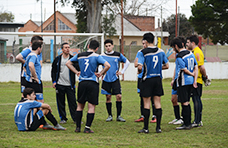
M 114 82 L 118 79 L 116 72 L 119 70 L 119 62 L 125 63 L 127 58 L 123 54 L 113 51 L 111 53 L 103 53 L 101 56 L 110 64 L 109 70 L 104 75 L 103 81 Z

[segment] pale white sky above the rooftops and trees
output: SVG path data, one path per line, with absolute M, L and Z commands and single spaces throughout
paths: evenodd
M 72 2 L 73 0 L 71 0 Z M 149 3 L 152 0 L 147 0 Z M 177 5 L 180 7 L 180 13 L 185 14 L 187 18 L 191 16 L 191 7 L 195 0 L 177 0 Z M 54 12 L 54 1 L 42 0 L 42 12 L 43 21 L 48 19 Z M 167 3 L 162 5 L 162 17 L 167 18 L 171 14 L 176 13 L 176 0 L 168 0 Z M 62 13 L 75 13 L 75 9 L 71 8 L 68 4 L 62 7 L 61 4 L 56 5 L 56 10 Z M 41 21 L 41 0 L 0 0 L 0 11 L 12 12 L 15 16 L 14 22 L 26 23 L 29 19 L 33 21 Z M 157 22 L 160 17 L 159 12 L 155 14 L 155 20 Z M 157 26 L 157 23 L 156 25 Z

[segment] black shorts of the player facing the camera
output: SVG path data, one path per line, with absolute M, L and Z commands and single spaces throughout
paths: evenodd
M 102 82 L 101 86 L 101 94 L 105 95 L 117 95 L 121 94 L 121 86 L 120 86 L 120 81 L 117 79 L 114 82 Z

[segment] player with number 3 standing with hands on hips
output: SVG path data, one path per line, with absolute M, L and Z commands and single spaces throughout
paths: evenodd
M 81 119 L 82 112 L 85 107 L 86 101 L 88 101 L 88 113 L 86 126 L 84 133 L 93 133 L 90 129 L 94 115 L 95 107 L 98 105 L 98 95 L 99 95 L 99 82 L 98 78 L 103 75 L 109 68 L 110 65 L 105 61 L 100 55 L 95 52 L 98 50 L 99 42 L 96 40 L 91 40 L 89 44 L 89 49 L 86 52 L 79 53 L 73 58 L 67 61 L 67 67 L 73 71 L 77 76 L 79 76 L 78 84 L 78 106 L 76 111 L 76 130 L 75 132 L 81 131 Z M 73 62 L 79 63 L 80 72 L 75 69 Z M 98 73 L 98 65 L 104 65 L 104 69 Z

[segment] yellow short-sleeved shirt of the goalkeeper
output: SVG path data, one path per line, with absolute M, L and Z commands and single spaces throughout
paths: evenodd
M 204 65 L 204 54 L 203 54 L 202 50 L 197 46 L 196 48 L 194 48 L 192 50 L 192 52 L 196 58 L 198 66 Z M 197 83 L 203 84 L 202 73 L 200 72 L 200 68 L 198 68 Z

